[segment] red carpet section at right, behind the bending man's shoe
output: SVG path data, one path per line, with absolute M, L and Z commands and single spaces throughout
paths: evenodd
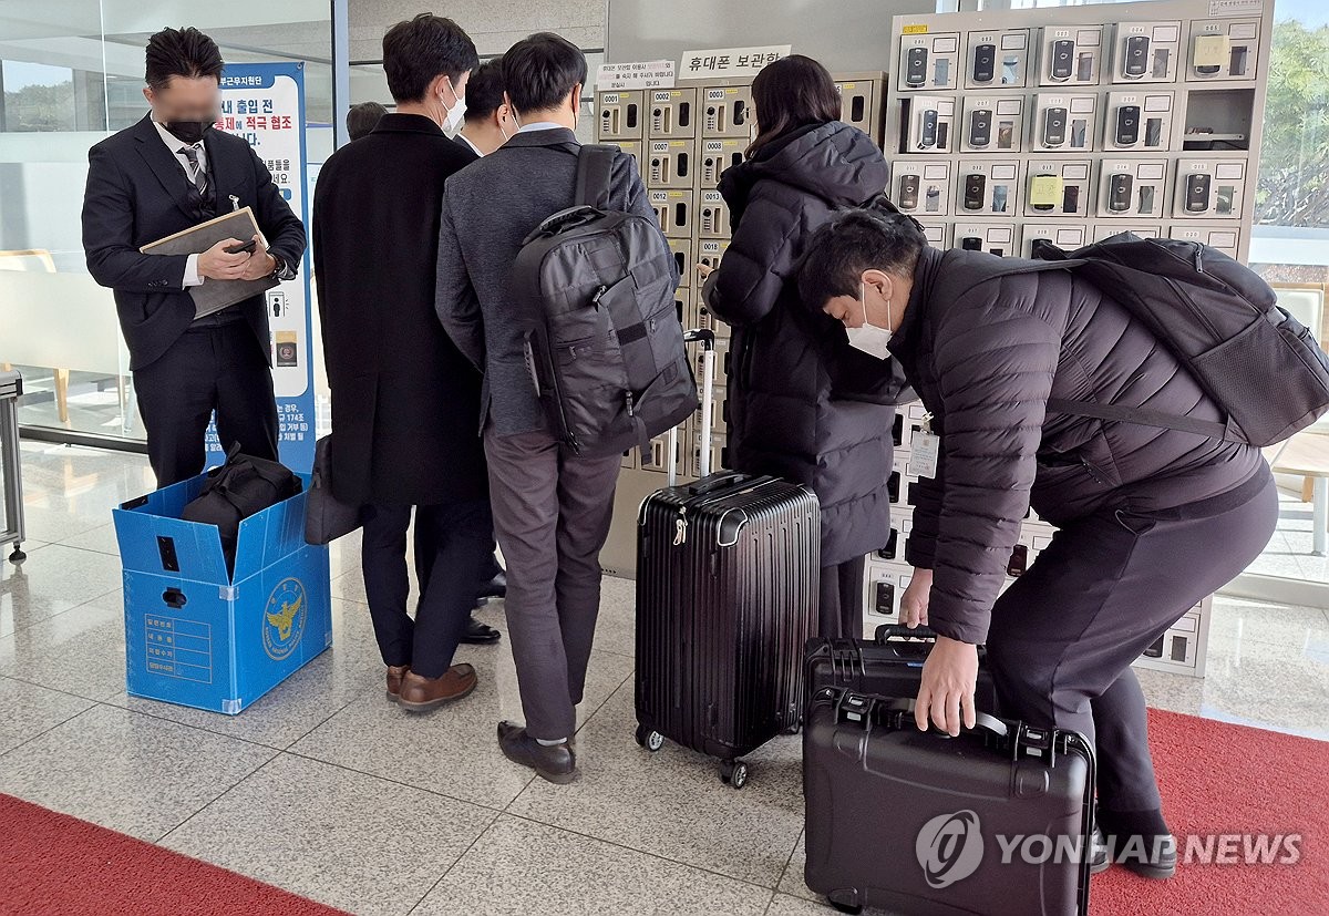
M 1092 916 L 1329 913 L 1329 743 L 1150 710 L 1150 747 L 1179 854 L 1187 834 L 1300 834 L 1300 861 L 1245 864 L 1239 843 L 1228 854 L 1243 864 L 1183 859 L 1170 881 L 1111 868 L 1094 879 Z

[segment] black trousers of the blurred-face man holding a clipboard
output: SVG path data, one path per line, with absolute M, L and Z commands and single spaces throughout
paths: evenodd
M 246 322 L 193 327 L 161 359 L 134 370 L 148 461 L 158 487 L 203 471 L 203 436 L 217 412 L 222 448 L 276 459 L 276 403 L 267 354 Z

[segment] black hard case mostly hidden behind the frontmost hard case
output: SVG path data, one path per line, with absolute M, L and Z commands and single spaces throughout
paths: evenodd
M 805 695 L 808 702 L 821 687 L 843 687 L 860 694 L 900 697 L 918 695 L 922 663 L 937 638 L 926 626 L 882 624 L 876 639 L 808 639 L 804 651 Z M 974 689 L 974 707 L 979 713 L 995 714 L 997 687 L 983 647 L 978 647 L 978 683 Z

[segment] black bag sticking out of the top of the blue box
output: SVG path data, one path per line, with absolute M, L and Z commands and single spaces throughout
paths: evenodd
M 239 445 L 233 445 L 226 464 L 207 472 L 203 491 L 185 505 L 179 517 L 217 525 L 226 569 L 234 573 L 241 521 L 299 495 L 303 487 L 284 464 L 241 455 Z

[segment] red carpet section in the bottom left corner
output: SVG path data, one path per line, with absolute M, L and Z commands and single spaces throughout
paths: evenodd
M 339 916 L 342 911 L 0 795 L 0 913 Z

